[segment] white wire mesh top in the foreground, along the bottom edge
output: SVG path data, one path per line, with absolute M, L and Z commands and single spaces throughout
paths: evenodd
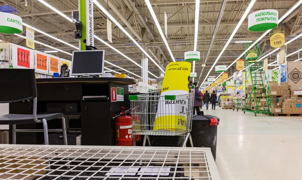
M 210 148 L 0 145 L 0 179 L 220 179 Z

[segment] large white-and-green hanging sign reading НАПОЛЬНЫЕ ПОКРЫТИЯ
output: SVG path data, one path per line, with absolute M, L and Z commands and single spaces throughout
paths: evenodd
M 250 31 L 259 32 L 274 29 L 278 26 L 277 10 L 261 10 L 251 13 L 248 18 Z

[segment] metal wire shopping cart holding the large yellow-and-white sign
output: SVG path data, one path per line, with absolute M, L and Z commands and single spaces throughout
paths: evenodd
M 192 128 L 194 93 L 184 95 L 160 95 L 160 91 L 129 96 L 132 117 L 132 135 L 144 135 L 151 145 L 149 136 L 183 136 L 182 146 L 190 140 Z M 133 143 L 135 140 L 133 139 Z

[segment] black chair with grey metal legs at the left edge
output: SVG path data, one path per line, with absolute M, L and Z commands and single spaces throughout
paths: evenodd
M 16 132 L 44 132 L 44 142 L 49 144 L 48 131 L 63 131 L 64 144 L 67 145 L 64 114 L 37 114 L 37 85 L 34 69 L 0 69 L 0 103 L 14 103 L 34 100 L 33 114 L 0 115 L 0 124 L 13 125 L 13 144 L 16 144 Z M 47 128 L 47 121 L 61 118 L 62 129 Z M 43 123 L 43 130 L 16 129 L 16 124 Z

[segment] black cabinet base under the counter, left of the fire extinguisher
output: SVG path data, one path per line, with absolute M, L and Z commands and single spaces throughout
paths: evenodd
M 115 145 L 109 102 L 83 102 L 82 145 Z

